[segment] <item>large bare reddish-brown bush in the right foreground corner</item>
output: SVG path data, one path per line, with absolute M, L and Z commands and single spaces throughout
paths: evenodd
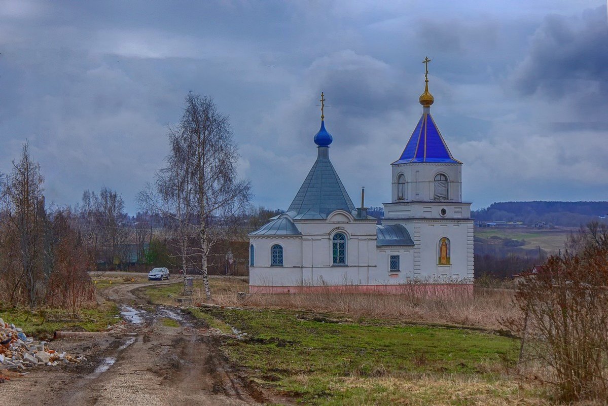
M 554 385 L 562 401 L 608 396 L 607 242 L 550 256 L 517 286 L 524 320 L 505 323 L 525 340 L 522 360 L 541 367 L 534 379 Z

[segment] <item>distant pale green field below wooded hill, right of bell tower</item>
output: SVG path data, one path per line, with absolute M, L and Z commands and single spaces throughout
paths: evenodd
M 564 250 L 564 243 L 570 230 L 529 230 L 529 229 L 485 229 L 476 228 L 475 236 L 489 238 L 499 236 L 502 238 L 524 239 L 526 241 L 523 249 L 538 249 L 540 246 L 548 253 L 556 253 Z

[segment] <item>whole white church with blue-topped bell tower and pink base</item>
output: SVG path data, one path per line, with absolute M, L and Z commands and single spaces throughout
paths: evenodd
M 288 210 L 249 234 L 250 293 L 472 291 L 471 203 L 462 201 L 462 163 L 430 115 L 428 81 L 422 117 L 391 163 L 381 224 L 363 197 L 354 207 L 331 164 L 322 94 L 316 162 Z

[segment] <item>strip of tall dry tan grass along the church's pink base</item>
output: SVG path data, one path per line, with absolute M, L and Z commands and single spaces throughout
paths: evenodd
M 390 294 L 277 294 L 248 295 L 246 278 L 212 278 L 213 303 L 222 306 L 297 309 L 341 314 L 350 318 L 384 318 L 424 323 L 448 323 L 499 329 L 501 318 L 519 317 L 510 289 L 475 288 L 473 295 L 402 295 Z M 205 295 L 195 287 L 194 301 L 204 302 Z

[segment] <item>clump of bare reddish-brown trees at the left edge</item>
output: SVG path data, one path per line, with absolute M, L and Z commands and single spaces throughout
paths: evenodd
M 43 180 L 27 143 L 0 177 L 0 300 L 75 312 L 94 292 L 88 258 L 69 210 L 47 215 Z

